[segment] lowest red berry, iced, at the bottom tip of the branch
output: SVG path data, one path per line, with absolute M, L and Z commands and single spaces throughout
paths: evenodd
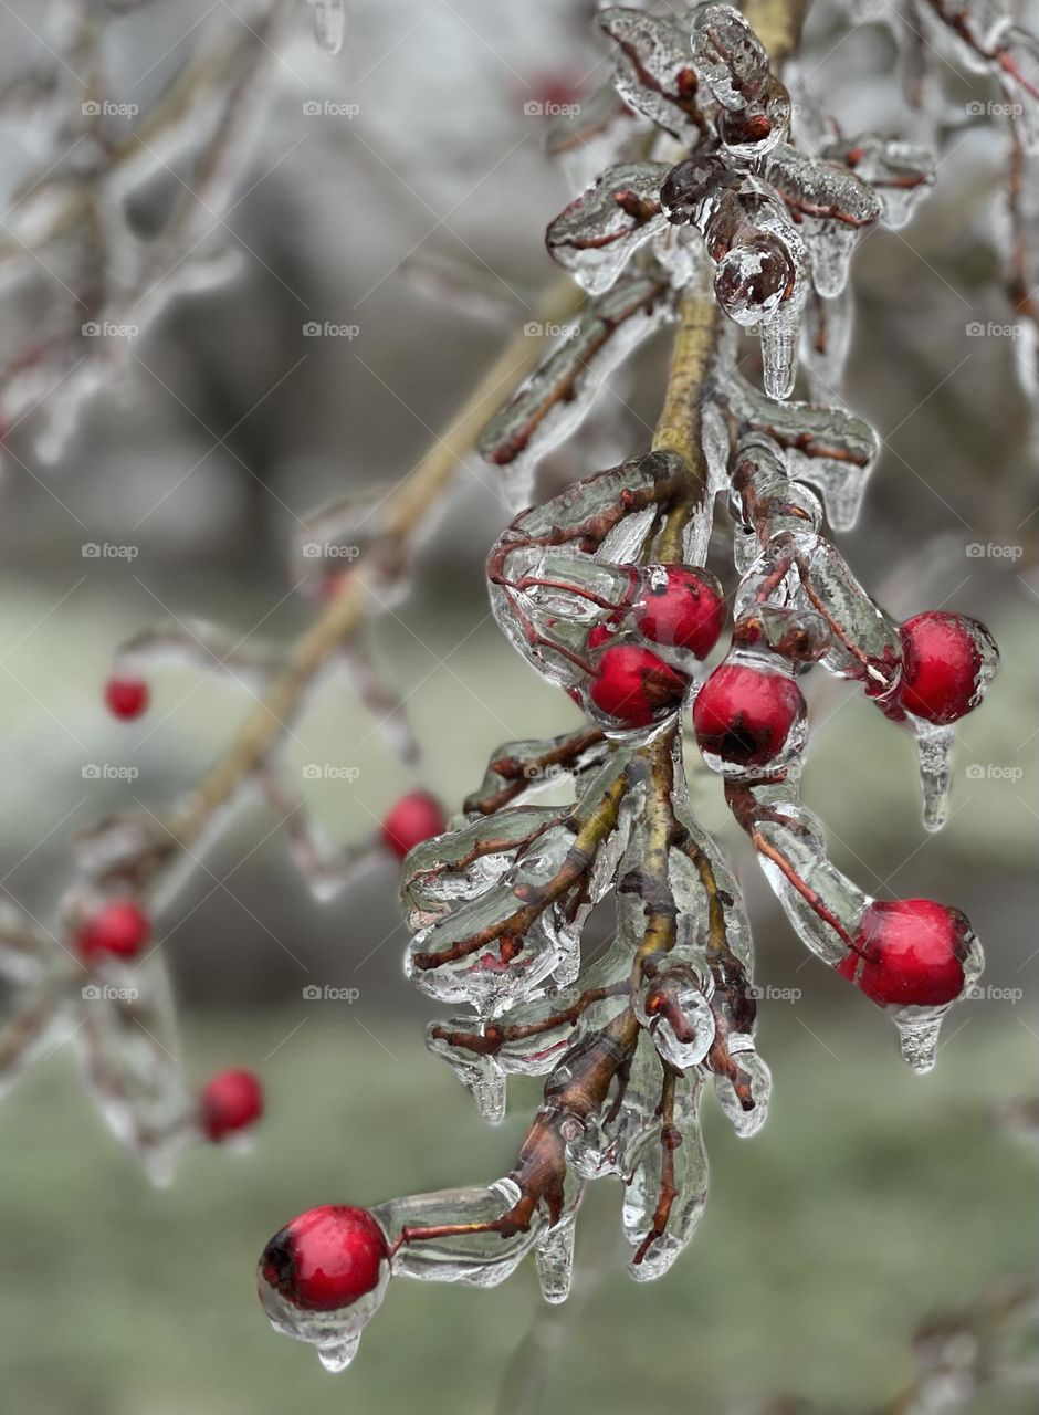
M 389 1259 L 386 1238 L 367 1208 L 323 1204 L 275 1234 L 260 1276 L 309 1312 L 334 1312 L 378 1286 Z

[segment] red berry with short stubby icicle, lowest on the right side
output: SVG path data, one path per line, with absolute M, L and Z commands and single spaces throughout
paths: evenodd
M 970 937 L 958 908 L 930 899 L 876 900 L 837 971 L 882 1007 L 941 1006 L 963 992 Z

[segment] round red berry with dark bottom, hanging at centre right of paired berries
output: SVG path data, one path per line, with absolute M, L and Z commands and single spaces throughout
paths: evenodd
M 793 678 L 719 664 L 696 693 L 692 726 L 702 751 L 740 767 L 763 767 L 779 757 L 804 712 Z

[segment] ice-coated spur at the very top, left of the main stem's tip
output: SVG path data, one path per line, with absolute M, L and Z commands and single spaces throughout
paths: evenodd
M 688 31 L 623 6 L 600 11 L 599 25 L 614 41 L 613 81 L 624 102 L 695 147 L 708 130 L 713 102 L 706 96 L 705 109 Z

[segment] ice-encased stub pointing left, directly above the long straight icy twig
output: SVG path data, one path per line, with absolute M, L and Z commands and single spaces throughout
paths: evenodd
M 609 290 L 636 250 L 667 226 L 660 187 L 668 171 L 667 163 L 648 161 L 609 167 L 551 222 L 548 253 L 590 294 Z

